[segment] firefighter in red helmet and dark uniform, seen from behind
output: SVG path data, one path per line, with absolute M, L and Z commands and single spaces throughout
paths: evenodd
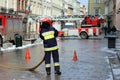
M 40 38 L 43 40 L 44 51 L 45 51 L 45 69 L 47 75 L 51 74 L 51 54 L 54 62 L 55 74 L 61 75 L 60 64 L 59 64 L 59 53 L 56 37 L 58 36 L 58 31 L 52 27 L 52 22 L 49 18 L 44 18 L 41 20 L 41 31 Z

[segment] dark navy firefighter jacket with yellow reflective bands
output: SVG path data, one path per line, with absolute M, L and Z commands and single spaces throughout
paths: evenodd
M 45 51 L 57 50 L 56 37 L 58 36 L 58 31 L 54 27 L 41 28 L 40 38 L 43 40 Z

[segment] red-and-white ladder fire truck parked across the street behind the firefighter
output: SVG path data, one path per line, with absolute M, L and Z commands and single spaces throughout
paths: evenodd
M 53 20 L 53 26 L 59 31 L 58 36 L 80 36 L 82 39 L 101 35 L 100 26 L 105 22 L 103 18 L 98 16 L 80 16 Z M 64 22 L 63 27 L 60 27 L 62 26 L 61 21 Z

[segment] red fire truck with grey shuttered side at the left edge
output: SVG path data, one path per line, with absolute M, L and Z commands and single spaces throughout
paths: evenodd
M 0 45 L 4 41 L 14 41 L 15 34 L 23 36 L 24 29 L 22 16 L 0 14 Z

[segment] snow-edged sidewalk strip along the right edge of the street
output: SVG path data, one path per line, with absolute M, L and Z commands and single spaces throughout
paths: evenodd
M 115 48 L 109 49 L 115 52 L 111 56 L 108 56 L 113 79 L 120 80 L 120 31 L 117 31 L 116 43 Z

